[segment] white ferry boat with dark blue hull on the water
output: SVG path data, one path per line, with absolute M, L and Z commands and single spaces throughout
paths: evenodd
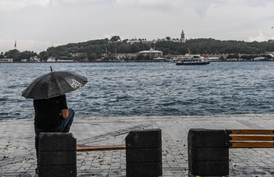
M 176 65 L 208 65 L 210 63 L 207 58 L 201 57 L 201 55 L 190 54 L 189 49 L 188 51 L 189 54 L 180 58 Z

